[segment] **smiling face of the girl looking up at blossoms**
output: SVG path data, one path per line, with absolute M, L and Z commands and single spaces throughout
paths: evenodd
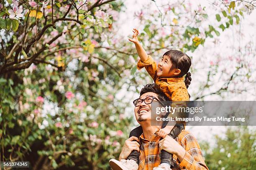
M 170 70 L 171 68 L 172 68 L 172 61 L 169 59 L 169 57 L 167 55 L 164 55 L 158 63 L 157 76 L 165 77 L 165 78 L 176 77 L 177 70 L 179 70 L 179 69 L 174 68 L 174 69 Z

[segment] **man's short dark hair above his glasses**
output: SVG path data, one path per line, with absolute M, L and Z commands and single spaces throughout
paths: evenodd
M 159 86 L 156 85 L 155 83 L 144 85 L 144 87 L 141 89 L 140 96 L 146 92 L 156 93 L 157 97 L 159 98 L 160 101 L 168 101 L 169 100 L 168 97 L 166 97 L 166 95 L 160 90 Z

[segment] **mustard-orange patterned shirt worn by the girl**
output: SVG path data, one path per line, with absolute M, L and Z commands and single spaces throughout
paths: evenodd
M 148 55 L 148 59 L 144 62 L 138 61 L 138 70 L 146 68 L 148 74 L 153 78 L 154 82 L 159 85 L 164 94 L 172 101 L 189 101 L 187 87 L 184 77 L 181 78 L 162 78 L 157 77 L 157 65 L 153 58 Z

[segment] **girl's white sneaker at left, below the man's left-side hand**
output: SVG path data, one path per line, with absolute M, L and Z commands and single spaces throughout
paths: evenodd
M 111 159 L 109 165 L 113 170 L 138 170 L 138 164 L 135 160 L 124 160 L 121 161 Z

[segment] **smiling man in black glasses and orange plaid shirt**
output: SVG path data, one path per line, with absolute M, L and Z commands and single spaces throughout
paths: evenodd
M 145 98 L 152 100 L 147 100 Z M 134 113 L 137 122 L 143 130 L 138 138 L 132 136 L 125 141 L 118 160 L 110 160 L 110 166 L 113 170 L 153 170 L 157 167 L 160 160 L 160 150 L 174 154 L 174 168 L 172 170 L 209 170 L 202 157 L 202 151 L 196 138 L 187 130 L 173 139 L 166 136 L 164 139 L 157 135 L 159 126 L 151 125 L 151 103 L 166 99 L 156 84 L 148 84 L 141 90 L 140 97 L 135 100 Z M 134 141 L 136 140 L 136 141 Z M 133 160 L 126 160 L 132 150 L 139 150 L 139 163 Z

